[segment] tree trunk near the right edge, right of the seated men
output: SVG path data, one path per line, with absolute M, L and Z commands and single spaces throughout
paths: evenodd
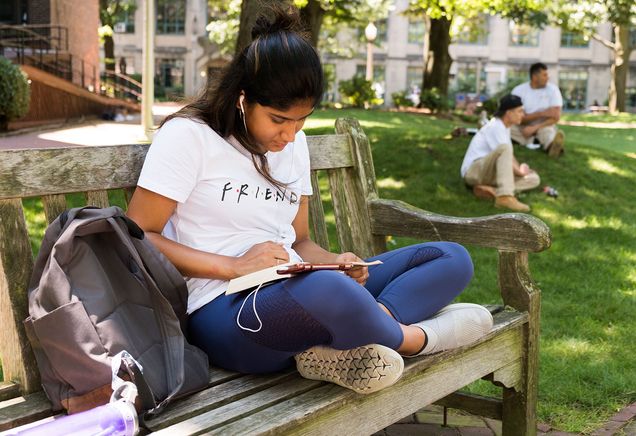
M 612 80 L 609 90 L 609 111 L 625 112 L 627 91 L 627 70 L 632 48 L 629 45 L 629 25 L 614 26 L 614 63 L 611 67 Z

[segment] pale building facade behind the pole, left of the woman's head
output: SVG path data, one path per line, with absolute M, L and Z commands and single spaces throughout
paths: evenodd
M 113 39 L 119 71 L 142 71 L 143 6 L 115 24 Z M 206 84 L 208 70 L 225 61 L 214 56 L 205 30 L 209 21 L 206 0 L 156 0 L 155 95 L 193 96 Z M 123 62 L 122 62 L 123 59 Z

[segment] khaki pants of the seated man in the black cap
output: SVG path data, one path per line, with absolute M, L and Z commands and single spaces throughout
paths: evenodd
M 501 144 L 489 155 L 473 162 L 464 176 L 464 181 L 470 186 L 494 186 L 497 196 L 514 195 L 539 186 L 541 179 L 535 172 L 523 177 L 515 176 L 512 160 L 512 145 Z

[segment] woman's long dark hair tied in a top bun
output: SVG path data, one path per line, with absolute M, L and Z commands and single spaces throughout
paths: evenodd
M 223 138 L 232 135 L 251 153 L 256 170 L 282 187 L 271 176 L 259 144 L 246 131 L 236 102 L 244 91 L 246 102 L 278 110 L 308 100 L 316 106 L 323 93 L 323 71 L 318 53 L 300 29 L 298 9 L 272 6 L 268 12 L 256 20 L 252 42 L 223 70 L 216 85 L 166 117 L 160 127 L 172 118 L 185 117 L 206 123 Z

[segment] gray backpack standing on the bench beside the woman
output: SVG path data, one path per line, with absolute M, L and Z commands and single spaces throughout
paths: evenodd
M 24 321 L 53 408 L 107 403 L 123 350 L 143 368 L 123 368 L 138 409 L 157 413 L 204 388 L 208 359 L 185 339 L 186 302 L 181 274 L 120 208 L 61 214 L 44 235 Z

